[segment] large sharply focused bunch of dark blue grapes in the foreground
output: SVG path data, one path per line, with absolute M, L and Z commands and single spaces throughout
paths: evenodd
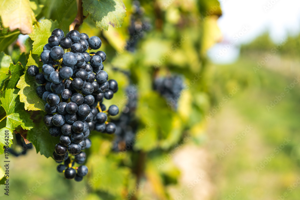
M 116 125 L 107 120 L 109 115 L 117 115 L 119 108 L 111 105 L 106 110 L 102 102 L 104 98 L 113 98 L 118 83 L 108 80 L 103 70 L 105 52 L 89 53 L 91 49 L 99 49 L 101 43 L 99 37 L 88 37 L 76 30 L 64 37 L 64 32 L 56 28 L 41 53 L 42 72 L 35 65 L 27 70 L 40 84 L 36 92 L 46 102 L 44 123 L 49 127 L 49 134 L 60 137 L 52 157 L 64 164 L 58 165 L 57 170 L 75 181 L 81 181 L 88 173 L 85 165 L 73 165 L 85 162 L 86 154 L 82 150 L 91 147 L 90 131 L 107 134 L 116 131 Z

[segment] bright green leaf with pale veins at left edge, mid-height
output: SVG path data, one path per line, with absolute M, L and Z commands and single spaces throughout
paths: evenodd
M 14 130 L 21 125 L 23 129 L 30 130 L 34 127 L 30 114 L 24 110 L 19 101 L 17 89 L 5 89 L 0 97 L 2 107 L 6 112 L 6 127 Z

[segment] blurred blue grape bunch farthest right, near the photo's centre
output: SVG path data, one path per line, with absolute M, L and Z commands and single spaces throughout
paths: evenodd
M 177 109 L 181 91 L 184 89 L 180 76 L 155 78 L 153 87 L 154 90 L 158 91 L 167 100 L 169 108 Z

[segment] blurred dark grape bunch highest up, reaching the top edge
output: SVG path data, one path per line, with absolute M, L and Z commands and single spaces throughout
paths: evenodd
M 126 49 L 134 52 L 140 38 L 144 36 L 144 31 L 148 31 L 150 27 L 149 19 L 145 19 L 143 14 L 145 9 L 140 5 L 140 1 L 132 2 L 132 15 L 130 17 L 130 27 L 128 28 L 130 39 Z

